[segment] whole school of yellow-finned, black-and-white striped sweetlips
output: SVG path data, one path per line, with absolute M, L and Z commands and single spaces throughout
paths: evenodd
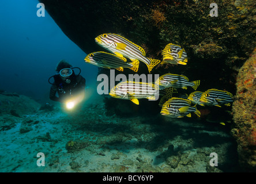
M 184 48 L 175 44 L 167 44 L 163 51 L 163 60 L 150 59 L 140 45 L 137 45 L 123 36 L 114 33 L 100 34 L 95 38 L 96 44 L 111 52 L 92 52 L 85 57 L 85 62 L 97 67 L 116 69 L 123 71 L 123 68 L 129 68 L 134 72 L 138 71 L 140 62 L 145 63 L 148 71 L 157 66 L 157 64 L 182 64 L 186 65 L 187 53 Z M 228 91 L 218 89 L 208 89 L 204 92 L 194 91 L 187 95 L 180 93 L 179 89 L 192 87 L 197 90 L 200 80 L 189 81 L 184 75 L 164 74 L 161 75 L 155 83 L 122 81 L 112 87 L 110 96 L 119 99 L 129 99 L 136 105 L 139 105 L 138 99 L 146 98 L 157 100 L 161 96 L 159 106 L 163 116 L 179 118 L 191 117 L 195 113 L 200 117 L 197 105 L 200 106 L 231 106 L 233 95 Z M 157 97 L 157 98 L 156 98 Z M 194 105 L 191 105 L 194 104 Z

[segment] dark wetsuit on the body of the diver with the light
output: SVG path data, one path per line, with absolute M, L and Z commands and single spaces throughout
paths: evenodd
M 70 78 L 70 83 L 62 81 L 59 75 L 55 76 L 55 82 L 51 86 L 50 99 L 57 102 L 65 102 L 66 99 L 70 98 L 72 95 L 85 90 L 85 78 L 81 75 L 74 75 Z M 58 93 L 59 97 L 56 96 Z

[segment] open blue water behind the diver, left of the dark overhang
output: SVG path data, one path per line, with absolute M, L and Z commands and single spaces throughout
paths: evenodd
M 81 68 L 86 85 L 96 81 L 97 67 L 84 63 L 84 53 L 45 11 L 37 17 L 37 0 L 2 1 L 0 6 L 0 89 L 49 101 L 48 78 L 65 59 Z M 3 16 L 4 15 L 4 16 Z

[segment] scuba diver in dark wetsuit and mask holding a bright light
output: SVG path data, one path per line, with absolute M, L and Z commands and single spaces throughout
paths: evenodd
M 73 108 L 74 104 L 82 101 L 85 95 L 85 78 L 80 73 L 76 75 L 74 68 L 65 60 L 61 60 L 56 67 L 57 74 L 51 76 L 48 82 L 52 85 L 50 90 L 50 99 L 65 103 L 68 109 Z M 54 83 L 50 82 L 54 78 Z M 58 97 L 56 96 L 58 93 Z

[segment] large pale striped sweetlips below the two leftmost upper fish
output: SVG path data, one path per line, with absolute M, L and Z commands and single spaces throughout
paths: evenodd
M 153 83 L 124 81 L 113 87 L 109 94 L 113 98 L 130 99 L 130 101 L 138 105 L 138 99 L 141 98 L 157 100 L 159 87 Z

